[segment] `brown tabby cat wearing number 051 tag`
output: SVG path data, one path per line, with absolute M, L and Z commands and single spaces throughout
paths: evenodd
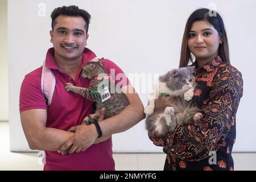
M 65 89 L 68 92 L 80 94 L 88 100 L 96 101 L 96 111 L 94 114 L 87 115 L 82 121 L 82 125 L 90 125 L 98 121 L 100 110 L 105 107 L 105 119 L 121 113 L 129 101 L 126 95 L 121 91 L 115 82 L 108 76 L 108 72 L 102 65 L 102 61 L 90 61 L 82 67 L 81 76 L 90 79 L 89 88 L 73 86 L 71 83 L 66 84 Z M 104 78 L 104 81 L 103 81 Z M 101 90 L 106 90 L 100 94 Z M 109 92 L 111 91 L 111 92 Z M 108 98 L 108 100 L 104 100 Z M 103 100 L 102 100 L 103 99 Z

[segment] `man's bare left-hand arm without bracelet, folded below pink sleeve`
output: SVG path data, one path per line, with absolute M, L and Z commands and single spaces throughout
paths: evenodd
M 73 133 L 46 127 L 47 111 L 31 109 L 22 111 L 20 119 L 28 145 L 32 150 L 57 151 Z

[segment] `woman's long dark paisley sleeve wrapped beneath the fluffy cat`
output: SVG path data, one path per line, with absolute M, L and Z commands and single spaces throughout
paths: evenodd
M 162 138 L 150 136 L 150 139 L 177 158 L 194 161 L 207 158 L 210 151 L 218 150 L 234 125 L 242 93 L 241 73 L 230 66 L 222 67 L 214 77 L 209 99 L 203 101 L 200 122 L 177 126 Z

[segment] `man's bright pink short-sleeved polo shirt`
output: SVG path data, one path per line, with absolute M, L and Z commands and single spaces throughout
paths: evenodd
M 51 105 L 49 105 L 47 109 L 46 100 L 41 90 L 42 67 L 40 67 L 24 77 L 20 88 L 19 111 L 46 109 L 46 127 L 68 130 L 72 126 L 81 125 L 85 116 L 92 114 L 94 110 L 92 101 L 86 100 L 79 94 L 67 92 L 65 90 L 65 84 L 71 82 L 73 85 L 88 88 L 90 80 L 88 80 L 88 78 L 82 78 L 80 72 L 82 65 L 92 60 L 96 55 L 90 51 L 90 49 L 84 49 L 82 53 L 82 63 L 77 72 L 76 80 L 73 80 L 57 67 L 53 55 L 54 49 L 48 49 L 46 54 L 46 67 L 52 69 L 56 78 L 55 91 Z M 122 70 L 110 60 L 104 60 L 102 64 L 109 73 L 110 69 L 114 69 L 113 78 L 118 73 L 123 73 Z M 127 77 L 121 81 L 122 86 L 129 84 Z M 119 80 L 115 80 L 115 84 L 118 82 Z M 44 165 L 44 170 L 114 170 L 115 163 L 112 155 L 111 137 L 105 142 L 93 144 L 84 152 L 61 155 L 58 152 L 46 151 L 46 165 Z

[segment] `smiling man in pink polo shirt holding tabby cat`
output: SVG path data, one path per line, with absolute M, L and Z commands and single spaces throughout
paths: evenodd
M 84 117 L 94 112 L 93 102 L 67 92 L 65 84 L 89 87 L 90 80 L 82 78 L 80 72 L 87 61 L 96 57 L 85 48 L 90 15 L 77 6 L 63 6 L 53 10 L 51 18 L 53 48 L 46 54 L 46 67 L 56 78 L 51 105 L 47 106 L 41 90 L 42 67 L 28 73 L 20 88 L 20 118 L 28 144 L 31 149 L 46 151 L 44 170 L 114 170 L 111 136 L 144 118 L 142 102 L 127 77 L 122 77 L 122 90 L 130 102 L 126 109 L 104 121 L 101 113 L 100 138 L 96 125 L 81 125 Z M 110 60 L 102 64 L 109 73 L 110 69 L 115 75 L 123 73 Z M 67 131 L 71 127 L 75 133 Z M 69 154 L 61 155 L 66 150 Z

